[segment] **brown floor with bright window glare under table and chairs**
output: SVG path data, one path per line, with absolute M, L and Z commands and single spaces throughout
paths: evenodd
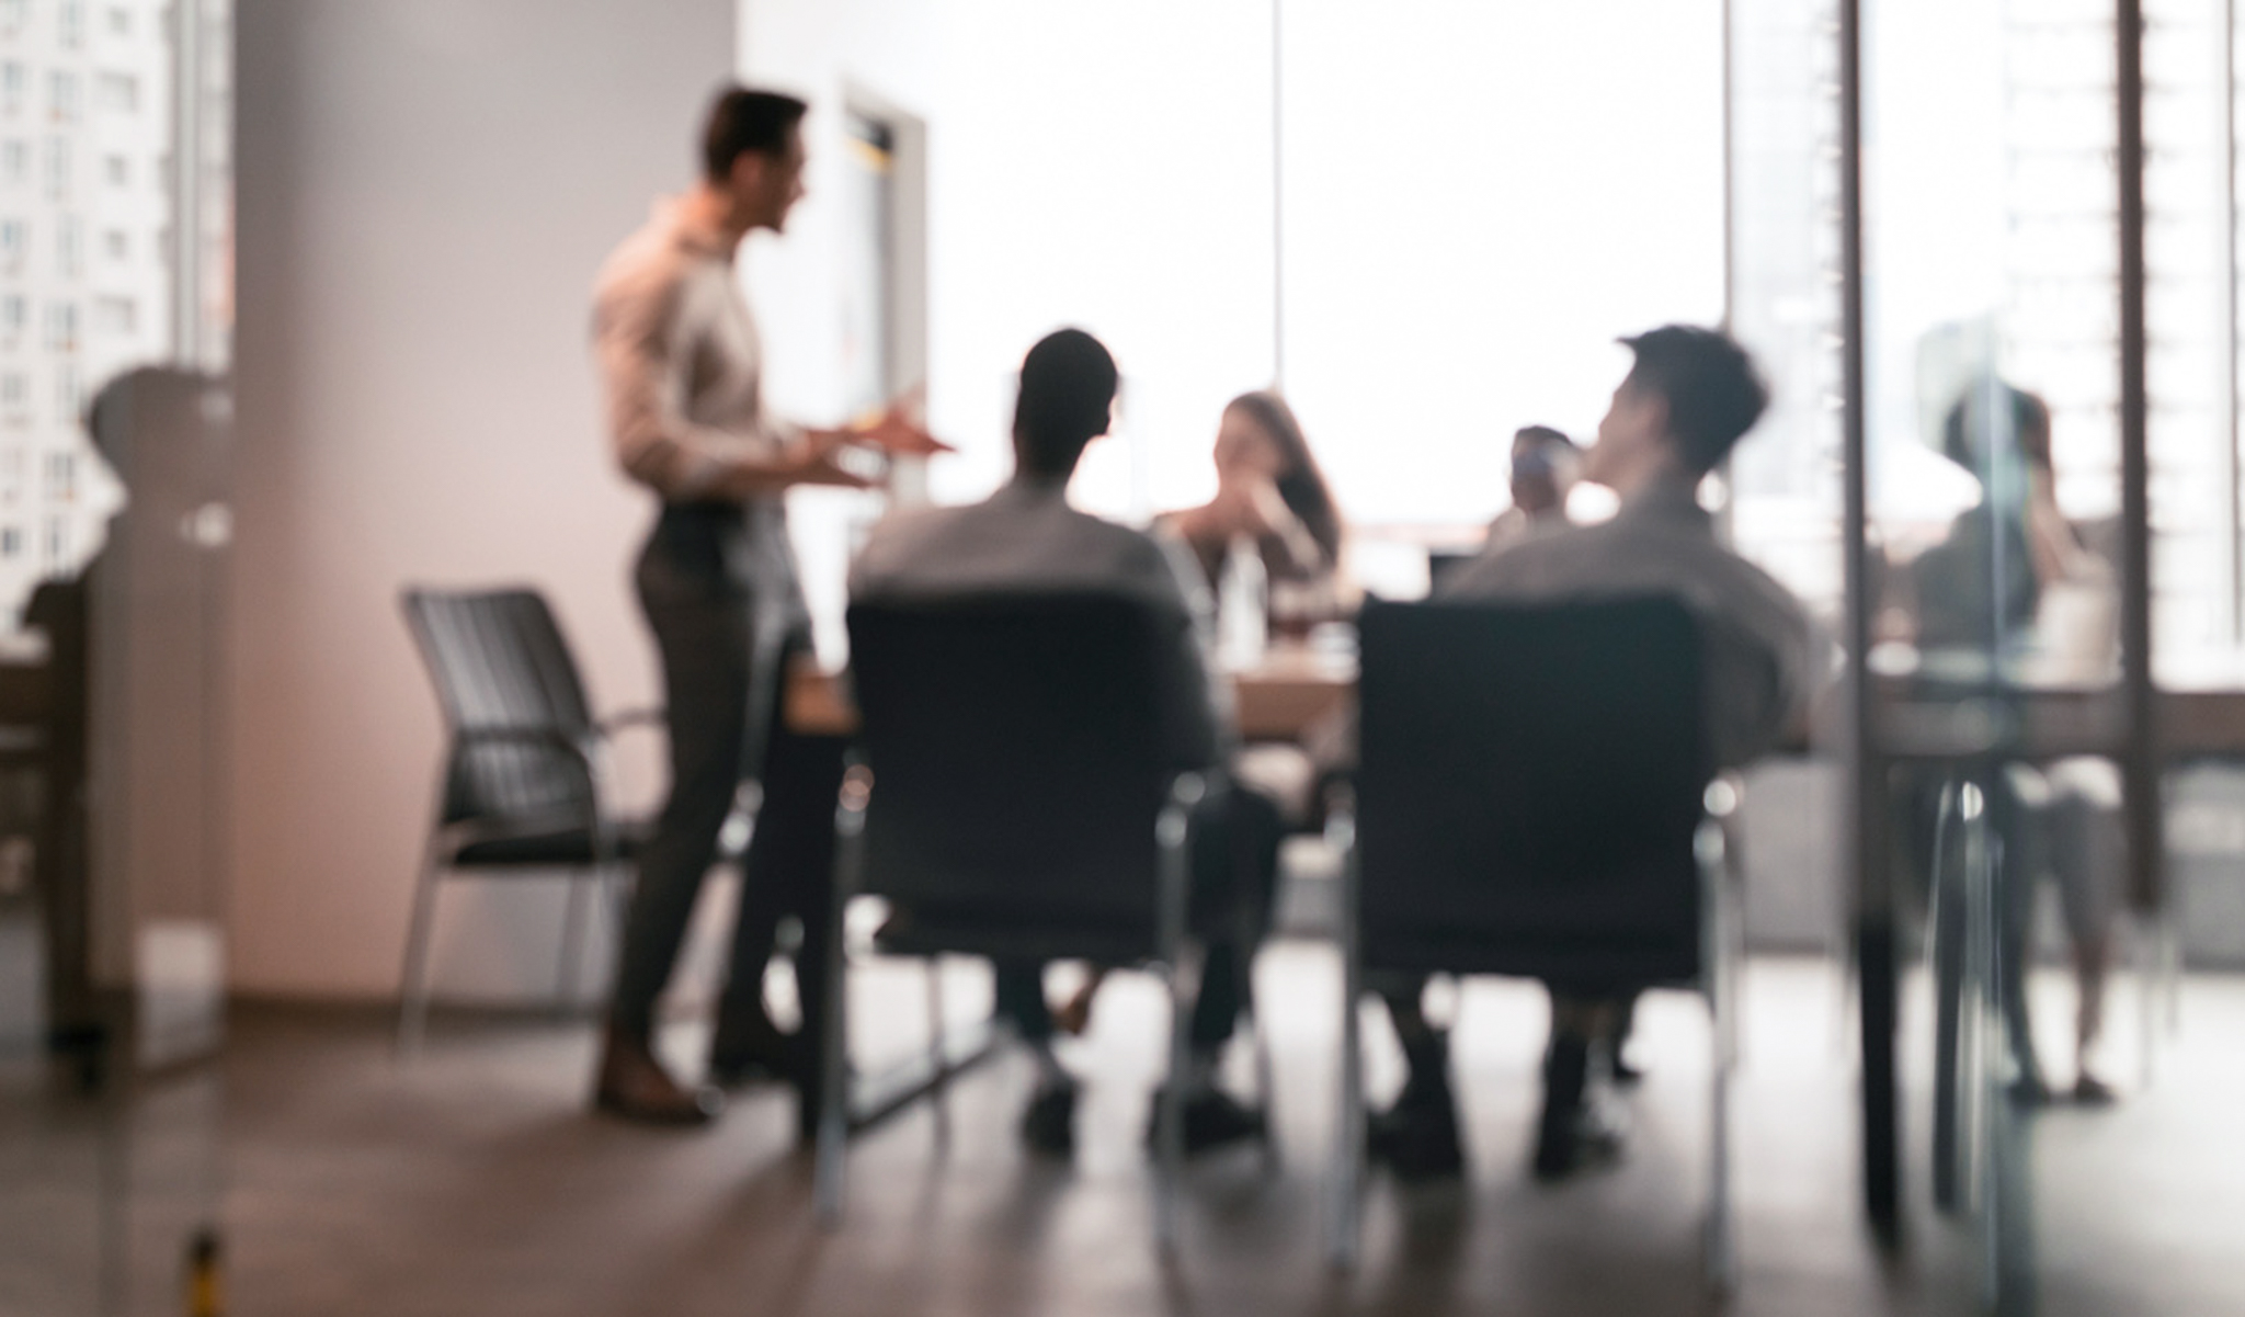
M 979 973 L 954 966 L 952 978 L 952 1005 L 977 1009 Z M 860 978 L 869 1052 L 911 1045 L 925 1018 L 918 989 L 905 971 Z M 1414 1191 L 1374 1175 L 1365 1263 L 1336 1277 L 1318 1241 L 1338 964 L 1320 946 L 1280 944 L 1264 955 L 1259 989 L 1277 1054 L 1280 1162 L 1239 1148 L 1194 1166 L 1174 1265 L 1152 1247 L 1140 1151 L 1161 1047 L 1161 1002 L 1145 980 L 1109 982 L 1075 1056 L 1091 1088 L 1073 1164 L 1033 1160 L 1015 1142 L 1030 1077 L 1019 1056 L 1004 1056 L 954 1086 L 947 1121 L 916 1108 L 855 1144 L 835 1234 L 810 1223 L 808 1160 L 790 1146 L 779 1092 L 750 1092 L 707 1130 L 640 1130 L 584 1112 L 586 1025 L 440 1016 L 427 1052 L 400 1065 L 386 1016 L 245 1009 L 224 1061 L 231 1310 L 1711 1310 L 1695 1247 L 1706 1164 L 1697 1002 L 1657 998 L 1643 1011 L 1650 1081 L 1625 1103 L 1628 1160 L 1542 1189 L 1524 1175 L 1540 998 L 1468 984 L 1457 1070 L 1473 1173 L 1461 1187 Z M 2045 1018 L 2063 1023 L 2061 996 Z M 2133 1016 L 2117 1005 L 2126 1032 Z M 1969 1236 L 1924 1207 L 1922 1157 L 1910 1164 L 1902 1256 L 1884 1259 L 1861 1225 L 1843 1018 L 1830 966 L 1749 966 L 1738 1092 L 1744 1277 L 1729 1310 L 1971 1313 Z M 2245 982 L 2193 978 L 2184 1023 L 2189 1047 L 2166 1056 L 2153 1090 L 2113 1112 L 2036 1121 L 2045 1313 L 2245 1313 L 2245 1142 L 2234 1117 Z M 1392 1043 L 1374 1038 L 1374 1081 L 1390 1088 Z M 667 1043 L 687 1059 L 698 1038 L 680 1027 Z M 1913 1126 L 1924 1126 L 1922 1110 L 1913 1101 Z

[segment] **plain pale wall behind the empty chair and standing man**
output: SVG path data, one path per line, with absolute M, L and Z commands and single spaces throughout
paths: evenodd
M 238 29 L 231 978 L 375 996 L 440 748 L 397 589 L 534 582 L 597 703 L 656 699 L 586 301 L 689 180 L 734 4 L 242 0 Z M 456 888 L 440 973 L 548 991 L 557 910 Z

